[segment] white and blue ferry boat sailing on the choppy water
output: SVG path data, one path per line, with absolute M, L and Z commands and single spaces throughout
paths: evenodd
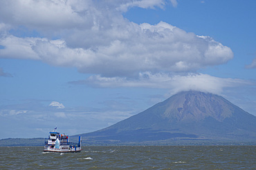
M 80 152 L 82 151 L 82 138 L 79 136 L 78 143 L 69 142 L 69 136 L 57 132 L 57 127 L 50 131 L 48 138 L 44 140 L 44 151 L 53 152 Z

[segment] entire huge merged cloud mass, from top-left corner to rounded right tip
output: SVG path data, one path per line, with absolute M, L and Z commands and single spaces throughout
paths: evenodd
M 176 1 L 171 1 L 176 6 Z M 163 8 L 167 1 L 3 1 L 1 58 L 33 59 L 104 77 L 140 72 L 194 72 L 232 59 L 230 47 L 209 36 L 185 32 L 169 23 L 137 24 L 122 12 Z M 31 17 L 33 16 L 33 17 Z M 5 25 L 8 25 L 5 26 Z M 23 25 L 37 37 L 6 30 Z M 53 37 L 62 37 L 54 39 Z

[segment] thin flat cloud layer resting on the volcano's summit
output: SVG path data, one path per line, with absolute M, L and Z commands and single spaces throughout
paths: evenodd
M 86 84 L 95 87 L 148 87 L 148 88 L 164 88 L 170 89 L 172 94 L 181 91 L 198 90 L 202 92 L 210 92 L 221 94 L 225 87 L 239 87 L 242 85 L 252 85 L 249 81 L 238 78 L 218 78 L 208 74 L 165 74 L 151 72 L 143 72 L 139 74 L 139 78 L 123 78 L 123 77 L 102 77 L 94 75 L 85 81 L 71 82 L 73 84 Z

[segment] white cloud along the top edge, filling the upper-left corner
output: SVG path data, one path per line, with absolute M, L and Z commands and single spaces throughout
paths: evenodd
M 111 17 L 113 19 L 120 17 L 121 12 L 127 11 L 127 8 L 154 8 L 156 6 L 163 8 L 165 4 L 165 0 L 6 0 L 1 1 L 0 19 L 13 26 L 25 25 L 41 31 L 58 32 L 71 28 L 84 30 L 98 24 L 111 25 L 112 23 L 109 23 Z M 104 19 L 107 20 L 104 21 Z

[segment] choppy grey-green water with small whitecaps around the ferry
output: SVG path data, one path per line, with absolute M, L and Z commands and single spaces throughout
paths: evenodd
M 0 147 L 0 169 L 256 169 L 256 146 Z

